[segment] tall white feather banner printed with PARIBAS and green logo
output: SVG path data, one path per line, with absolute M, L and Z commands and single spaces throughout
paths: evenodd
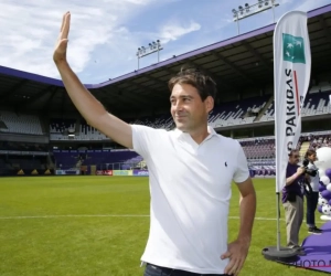
M 288 155 L 301 135 L 301 108 L 310 71 L 307 13 L 288 12 L 279 19 L 274 33 L 276 192 L 286 183 Z

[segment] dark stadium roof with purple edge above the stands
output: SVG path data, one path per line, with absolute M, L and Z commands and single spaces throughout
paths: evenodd
M 308 12 L 312 73 L 330 71 L 331 4 Z M 137 70 L 102 84 L 85 86 L 113 113 L 168 108 L 168 79 L 191 63 L 209 72 L 225 93 L 263 89 L 274 79 L 273 35 L 276 24 Z M 313 77 L 313 76 L 312 76 Z M 58 79 L 0 66 L 1 104 L 20 110 L 75 110 Z

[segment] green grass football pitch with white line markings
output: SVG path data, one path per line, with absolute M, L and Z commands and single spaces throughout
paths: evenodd
M 255 179 L 254 184 L 256 221 L 241 275 L 318 274 L 264 258 L 261 250 L 276 245 L 275 180 Z M 0 178 L 0 275 L 142 275 L 149 201 L 145 177 Z M 231 240 L 237 235 L 238 210 L 234 185 Z M 285 245 L 282 208 L 280 225 Z M 300 241 L 307 235 L 303 223 Z

